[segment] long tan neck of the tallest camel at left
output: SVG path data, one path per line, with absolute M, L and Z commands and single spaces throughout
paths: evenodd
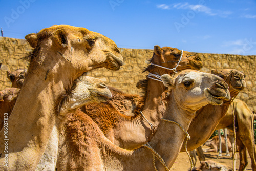
M 39 66 L 36 71 L 28 70 L 24 86 L 8 120 L 10 170 L 34 170 L 45 151 L 56 121 L 54 102 L 65 89 L 72 86 L 69 84 L 72 81 L 65 79 L 71 78 L 67 73 L 53 74 L 59 67 L 61 65 L 55 65 L 52 70 L 43 70 Z M 3 140 L 6 138 L 3 129 L 0 139 L 0 153 L 4 156 Z M 19 160 L 20 158 L 23 160 Z M 4 158 L 0 159 L 1 168 L 4 163 L 2 160 Z

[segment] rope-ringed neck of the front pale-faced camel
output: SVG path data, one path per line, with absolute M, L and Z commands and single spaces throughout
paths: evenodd
M 187 111 L 180 110 L 175 103 L 168 105 L 166 108 L 164 118 L 178 122 L 184 130 L 187 130 L 193 115 L 188 115 Z M 168 168 L 170 168 L 178 157 L 184 139 L 185 133 L 178 125 L 161 120 L 158 129 L 149 144 L 163 158 Z M 152 152 L 146 147 L 141 147 L 134 151 L 124 151 L 121 148 L 117 149 L 115 147 L 114 150 L 119 151 L 118 155 L 123 154 L 123 156 L 121 157 L 122 160 L 112 163 L 125 162 L 126 164 L 121 164 L 127 166 L 124 170 L 132 168 L 136 168 L 136 170 L 155 170 L 152 162 Z M 115 153 L 117 152 L 115 151 Z M 125 160 L 123 160 L 124 158 Z M 143 163 L 143 165 L 141 163 Z M 159 170 L 164 169 L 162 163 L 157 159 L 156 167 Z

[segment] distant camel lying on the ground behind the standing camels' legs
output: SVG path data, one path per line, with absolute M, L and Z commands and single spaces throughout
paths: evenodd
M 210 149 L 204 149 L 204 152 L 218 152 L 218 149 L 220 148 L 220 145 L 222 146 L 223 151 L 227 151 L 230 150 L 232 148 L 232 144 L 230 142 L 229 139 L 227 139 L 227 146 L 228 148 L 226 148 L 226 143 L 224 141 L 224 136 L 220 136 L 222 139 L 222 143 L 220 143 L 220 139 L 219 136 L 216 135 L 214 137 L 212 137 L 212 139 L 207 140 L 204 145 L 210 147 Z

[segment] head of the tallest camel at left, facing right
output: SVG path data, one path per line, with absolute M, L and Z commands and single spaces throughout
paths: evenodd
M 118 70 L 123 65 L 115 42 L 86 28 L 54 25 L 37 34 L 28 34 L 25 38 L 34 48 L 30 54 L 30 63 L 49 65 L 45 56 L 57 56 L 49 60 L 53 63 L 64 59 L 61 65 L 65 65 L 66 70 L 78 73 L 78 77 L 95 68 Z M 44 55 L 38 57 L 38 54 Z

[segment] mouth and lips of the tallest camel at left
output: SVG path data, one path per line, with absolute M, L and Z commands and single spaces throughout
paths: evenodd
M 109 69 L 109 70 L 113 70 L 113 71 L 119 70 L 120 66 L 123 65 L 123 57 L 121 55 L 120 56 L 115 56 L 112 53 L 108 53 L 106 55 L 107 55 L 107 58 L 106 58 L 107 66 L 106 66 L 106 68 Z

